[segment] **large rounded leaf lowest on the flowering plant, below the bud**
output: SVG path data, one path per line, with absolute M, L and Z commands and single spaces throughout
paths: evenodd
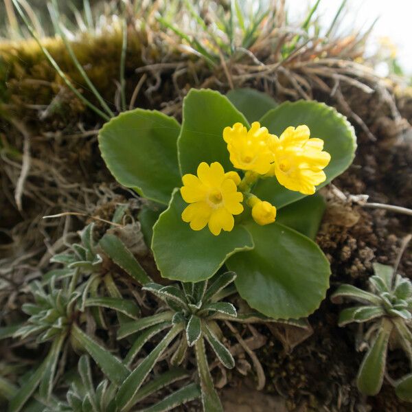
M 330 266 L 321 249 L 306 236 L 279 223 L 249 222 L 252 251 L 227 260 L 235 284 L 249 306 L 275 319 L 299 319 L 314 312 L 329 287 Z

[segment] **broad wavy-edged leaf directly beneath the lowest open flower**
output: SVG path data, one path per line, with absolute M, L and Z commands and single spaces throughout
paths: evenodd
M 185 206 L 176 190 L 153 228 L 152 251 L 163 277 L 181 282 L 209 279 L 230 255 L 253 248 L 249 232 L 241 225 L 219 236 L 207 227 L 193 231 L 181 218 Z

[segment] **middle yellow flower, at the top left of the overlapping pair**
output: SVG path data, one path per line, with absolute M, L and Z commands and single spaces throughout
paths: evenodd
M 273 153 L 269 149 L 268 141 L 273 135 L 268 133 L 266 127 L 260 127 L 259 122 L 253 122 L 251 129 L 247 130 L 241 123 L 233 127 L 225 127 L 223 139 L 227 143 L 230 161 L 235 168 L 251 170 L 265 174 L 271 168 Z

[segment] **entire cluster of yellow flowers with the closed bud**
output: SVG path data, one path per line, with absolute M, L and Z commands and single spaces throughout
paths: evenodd
M 243 201 L 258 225 L 274 222 L 276 207 L 251 194 L 260 178 L 275 176 L 286 189 L 302 194 L 314 194 L 316 186 L 326 179 L 323 169 L 330 162 L 330 154 L 323 151 L 323 140 L 310 138 L 306 125 L 290 126 L 277 137 L 259 122 L 253 122 L 250 130 L 235 123 L 223 130 L 223 139 L 231 163 L 244 170 L 244 177 L 241 179 L 235 171 L 225 173 L 218 162 L 202 162 L 197 176 L 183 176 L 181 195 L 190 205 L 183 210 L 182 219 L 193 230 L 207 225 L 215 236 L 222 230 L 231 231 L 233 216 L 244 210 Z

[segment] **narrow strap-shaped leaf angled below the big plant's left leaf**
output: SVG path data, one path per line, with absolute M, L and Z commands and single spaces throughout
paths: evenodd
M 137 280 L 139 284 L 144 285 L 148 282 L 153 282 L 144 268 L 137 262 L 133 253 L 126 248 L 122 240 L 117 238 L 117 236 L 106 233 L 100 240 L 99 246 L 117 266 L 120 266 L 128 275 Z

